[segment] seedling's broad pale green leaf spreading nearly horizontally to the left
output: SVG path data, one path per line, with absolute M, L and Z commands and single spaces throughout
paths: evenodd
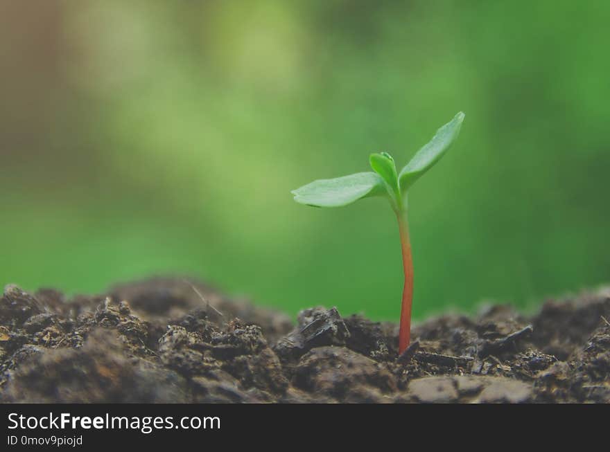
M 293 190 L 295 201 L 314 207 L 347 206 L 358 199 L 386 193 L 383 179 L 374 172 L 358 172 L 336 179 L 320 179 Z

